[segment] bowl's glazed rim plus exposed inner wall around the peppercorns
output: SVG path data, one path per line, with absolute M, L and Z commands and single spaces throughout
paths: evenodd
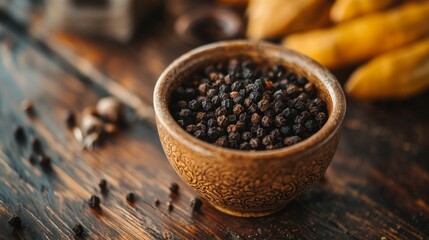
M 173 119 L 169 111 L 169 103 L 172 92 L 195 71 L 209 64 L 225 61 L 231 58 L 250 58 L 255 62 L 266 62 L 271 64 L 282 64 L 287 70 L 299 76 L 306 77 L 314 83 L 318 89 L 318 96 L 322 98 L 328 109 L 328 120 L 325 125 L 311 137 L 290 147 L 268 150 L 268 151 L 242 151 L 221 148 L 213 144 L 199 140 L 186 133 Z M 218 150 L 238 154 L 250 153 L 250 156 L 267 154 L 270 152 L 294 152 L 300 149 L 309 149 L 332 136 L 345 114 L 345 97 L 338 81 L 323 66 L 314 60 L 292 50 L 285 49 L 273 44 L 254 41 L 227 41 L 209 44 L 197 48 L 176 61 L 174 61 L 160 76 L 154 94 L 155 112 L 158 124 L 163 124 L 170 134 L 197 143 L 196 148 L 203 147 L 206 150 Z M 198 149 L 196 149 L 198 150 Z

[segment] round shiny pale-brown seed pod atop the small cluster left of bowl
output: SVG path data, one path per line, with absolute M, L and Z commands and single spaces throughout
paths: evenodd
M 114 97 L 105 97 L 98 101 L 97 114 L 105 121 L 120 123 L 124 120 L 124 106 Z

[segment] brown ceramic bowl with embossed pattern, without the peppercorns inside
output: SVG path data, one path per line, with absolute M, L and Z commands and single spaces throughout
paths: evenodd
M 186 133 L 170 114 L 171 93 L 197 69 L 234 57 L 281 63 L 307 77 L 327 103 L 326 124 L 298 144 L 269 151 L 222 148 Z M 219 42 L 181 56 L 159 77 L 154 105 L 159 137 L 176 172 L 214 207 L 240 217 L 274 213 L 318 181 L 335 154 L 346 111 L 343 90 L 326 68 L 295 51 L 256 41 Z

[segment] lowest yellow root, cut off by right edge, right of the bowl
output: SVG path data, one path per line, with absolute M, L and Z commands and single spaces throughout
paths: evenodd
M 429 87 L 429 38 L 385 53 L 358 68 L 345 90 L 356 99 L 405 98 Z

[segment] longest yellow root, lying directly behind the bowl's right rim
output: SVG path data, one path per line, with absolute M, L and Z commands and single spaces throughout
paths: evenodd
M 283 45 L 328 68 L 363 62 L 429 33 L 429 2 L 407 4 L 336 27 L 292 34 Z

